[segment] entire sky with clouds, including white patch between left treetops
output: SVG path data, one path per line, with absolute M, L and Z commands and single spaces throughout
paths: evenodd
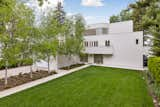
M 58 1 L 62 2 L 67 15 L 80 13 L 87 24 L 94 24 L 109 22 L 110 16 L 117 15 L 136 0 L 48 0 L 41 8 L 36 0 L 30 0 L 27 5 L 34 8 L 38 16 L 41 11 L 54 9 Z

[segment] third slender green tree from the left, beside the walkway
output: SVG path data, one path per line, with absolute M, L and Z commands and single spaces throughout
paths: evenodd
M 53 11 L 43 17 L 41 23 L 42 40 L 40 44 L 41 53 L 48 62 L 48 72 L 50 73 L 50 60 L 56 56 L 58 50 L 58 34 L 60 32 L 59 22 L 54 18 Z

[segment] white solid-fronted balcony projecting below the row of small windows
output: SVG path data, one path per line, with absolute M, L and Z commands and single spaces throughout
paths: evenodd
M 113 54 L 113 47 L 101 46 L 101 47 L 85 47 L 84 53 L 86 54 Z

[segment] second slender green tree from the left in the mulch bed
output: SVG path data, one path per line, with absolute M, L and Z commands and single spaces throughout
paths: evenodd
M 18 13 L 22 17 L 19 21 L 18 32 L 20 43 L 20 60 L 30 61 L 30 77 L 32 78 L 32 66 L 39 60 L 40 56 L 37 47 L 40 42 L 39 29 L 35 26 L 35 16 L 33 10 L 25 5 L 21 4 L 18 7 Z

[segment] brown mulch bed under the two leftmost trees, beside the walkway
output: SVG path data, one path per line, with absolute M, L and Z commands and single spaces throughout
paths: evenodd
M 47 71 L 36 71 L 36 72 L 33 72 L 32 78 L 30 77 L 30 73 L 19 74 L 17 76 L 11 76 L 11 77 L 8 77 L 7 86 L 4 85 L 4 78 L 3 78 L 3 79 L 0 79 L 0 91 L 8 89 L 8 88 L 13 88 L 15 86 L 22 85 L 24 83 L 28 83 L 28 82 L 31 82 L 31 81 L 34 81 L 40 78 L 47 77 L 49 75 L 53 75 L 53 74 L 56 74 L 56 72 L 53 71 L 51 73 L 48 73 Z

